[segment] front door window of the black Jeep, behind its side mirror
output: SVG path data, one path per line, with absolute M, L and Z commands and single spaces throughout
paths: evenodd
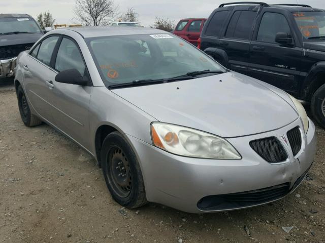
M 257 41 L 276 43 L 276 34 L 280 32 L 291 34 L 286 18 L 282 14 L 265 13 L 259 25 Z

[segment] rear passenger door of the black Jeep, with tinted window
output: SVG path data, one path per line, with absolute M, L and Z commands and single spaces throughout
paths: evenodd
M 256 16 L 256 8 L 255 11 L 235 11 L 220 38 L 219 49 L 228 55 L 228 68 L 231 70 L 247 74 Z

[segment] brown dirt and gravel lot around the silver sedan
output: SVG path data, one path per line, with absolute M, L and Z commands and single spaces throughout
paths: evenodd
M 125 210 L 93 158 L 47 125 L 26 128 L 11 82 L 0 86 L 0 242 L 325 242 L 322 129 L 307 179 L 276 203 L 205 215 Z

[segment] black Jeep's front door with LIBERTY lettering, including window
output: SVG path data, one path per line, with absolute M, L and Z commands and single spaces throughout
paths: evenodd
M 249 75 L 294 94 L 299 89 L 302 48 L 295 42 L 276 43 L 277 33 L 293 36 L 284 15 L 265 12 L 251 42 Z

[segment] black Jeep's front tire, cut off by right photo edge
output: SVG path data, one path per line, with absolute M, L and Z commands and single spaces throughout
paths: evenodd
M 313 117 L 322 128 L 325 128 L 325 85 L 316 90 L 310 105 Z

